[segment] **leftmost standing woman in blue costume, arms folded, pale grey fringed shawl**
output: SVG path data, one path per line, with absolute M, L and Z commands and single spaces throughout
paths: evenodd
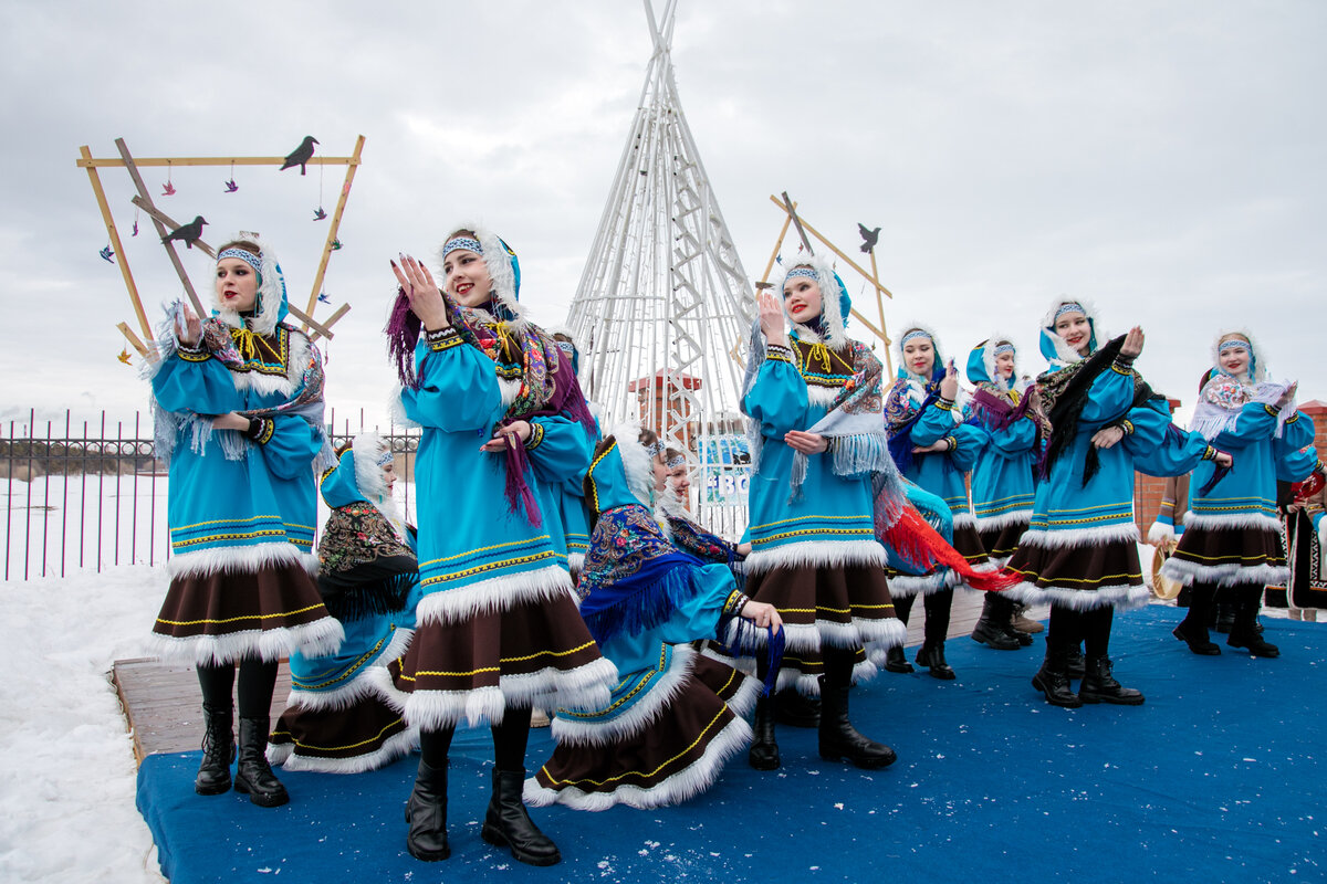
M 285 280 L 255 237 L 216 260 L 216 310 L 188 307 L 157 335 L 151 364 L 157 456 L 170 463 L 171 583 L 153 627 L 158 653 L 198 667 L 203 763 L 194 790 L 231 787 L 231 693 L 239 668 L 235 789 L 255 804 L 289 801 L 267 762 L 277 661 L 336 651 L 341 624 L 318 598 L 312 555 L 322 358 L 285 325 Z

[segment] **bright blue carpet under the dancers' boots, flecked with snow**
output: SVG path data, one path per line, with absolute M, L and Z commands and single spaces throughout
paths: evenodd
M 195 795 L 198 753 L 151 755 L 138 807 L 175 884 L 1323 880 L 1327 628 L 1269 619 L 1279 660 L 1223 645 L 1197 657 L 1170 637 L 1177 619 L 1165 607 L 1116 618 L 1116 673 L 1147 694 L 1141 708 L 1055 709 L 1028 685 L 1040 641 L 954 640 L 958 681 L 881 673 L 852 694 L 856 724 L 894 746 L 894 766 L 824 762 L 815 732 L 780 728 L 782 770 L 734 759 L 686 804 L 536 810 L 563 851 L 552 868 L 479 838 L 487 729 L 456 736 L 443 863 L 405 851 L 417 757 L 349 777 L 283 773 L 292 801 L 264 810 L 238 793 Z M 549 746 L 535 732 L 529 765 Z

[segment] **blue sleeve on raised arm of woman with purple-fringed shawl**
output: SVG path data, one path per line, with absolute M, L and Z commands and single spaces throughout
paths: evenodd
M 442 342 L 415 349 L 418 390 L 402 390 L 406 417 L 443 432 L 488 432 L 502 417 L 502 390 L 494 362 L 451 330 Z

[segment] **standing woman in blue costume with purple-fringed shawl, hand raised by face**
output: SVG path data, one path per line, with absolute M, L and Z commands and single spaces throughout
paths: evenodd
M 593 419 L 571 360 L 520 314 L 516 254 L 478 225 L 439 253 L 446 294 L 414 258 L 393 262 L 389 322 L 415 461 L 419 584 L 401 664 L 422 759 L 406 847 L 450 856 L 447 758 L 456 724 L 488 722 L 494 794 L 480 831 L 532 865 L 560 861 L 522 802 L 531 708 L 608 701 L 616 669 L 576 612 L 555 486 L 585 469 Z M 421 337 L 421 330 L 423 331 Z

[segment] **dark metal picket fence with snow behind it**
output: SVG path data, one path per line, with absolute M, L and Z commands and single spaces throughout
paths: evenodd
M 366 429 L 329 412 L 328 432 L 340 445 Z M 170 558 L 166 522 L 169 477 L 157 461 L 146 414 L 115 420 L 28 420 L 0 424 L 0 486 L 5 492 L 4 579 L 64 577 L 119 565 L 157 565 Z M 419 431 L 389 425 L 380 432 L 398 456 L 398 484 L 410 513 Z M 320 501 L 321 508 L 321 501 Z M 318 522 L 321 524 L 321 518 Z

